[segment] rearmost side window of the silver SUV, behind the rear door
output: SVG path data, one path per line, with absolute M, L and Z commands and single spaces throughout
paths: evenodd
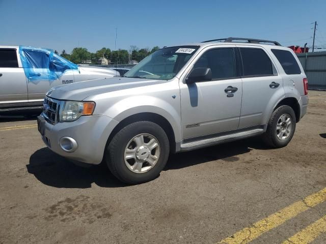
M 279 50 L 279 49 L 271 49 L 271 51 L 279 60 L 286 74 L 288 75 L 301 74 L 300 67 L 297 65 L 296 60 L 290 51 Z

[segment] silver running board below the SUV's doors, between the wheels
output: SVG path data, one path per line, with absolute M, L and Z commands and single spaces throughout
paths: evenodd
M 253 129 L 248 131 L 235 132 L 228 135 L 220 135 L 211 138 L 194 140 L 186 143 L 181 143 L 180 151 L 189 151 L 206 146 L 212 146 L 216 144 L 221 144 L 225 142 L 235 141 L 239 139 L 244 139 L 252 136 L 257 136 L 264 133 L 264 129 Z

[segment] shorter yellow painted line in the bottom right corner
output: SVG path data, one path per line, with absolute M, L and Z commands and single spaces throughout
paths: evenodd
M 323 232 L 326 232 L 326 216 L 297 232 L 282 244 L 308 244 Z

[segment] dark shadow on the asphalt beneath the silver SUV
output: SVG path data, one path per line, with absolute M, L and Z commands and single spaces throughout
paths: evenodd
M 269 149 L 256 138 L 211 146 L 185 153 L 171 155 L 165 171 L 203 164 L 213 160 L 238 161 L 238 155 L 252 149 Z M 105 165 L 80 167 L 53 153 L 47 147 L 41 148 L 30 157 L 26 165 L 29 173 L 43 184 L 56 188 L 91 188 L 92 184 L 105 188 L 127 187 L 112 175 Z

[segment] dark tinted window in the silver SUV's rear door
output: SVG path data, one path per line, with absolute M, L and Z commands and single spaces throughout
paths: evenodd
M 259 48 L 240 48 L 240 52 L 244 76 L 273 75 L 273 65 L 264 50 Z

